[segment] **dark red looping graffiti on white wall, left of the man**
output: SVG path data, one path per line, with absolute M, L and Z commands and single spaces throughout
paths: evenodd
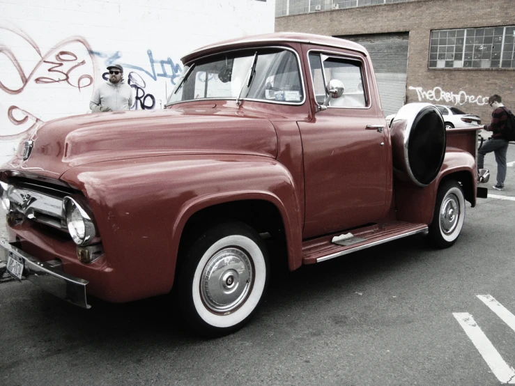
M 0 45 L 3 55 L 0 135 L 3 140 L 18 139 L 26 130 L 43 122 L 45 109 L 54 102 L 56 105 L 61 102 L 59 95 L 50 90 L 57 89 L 73 100 L 73 95 L 93 88 L 94 59 L 84 38 L 66 38 L 44 52 L 22 29 L 0 24 L 0 33 L 3 40 Z

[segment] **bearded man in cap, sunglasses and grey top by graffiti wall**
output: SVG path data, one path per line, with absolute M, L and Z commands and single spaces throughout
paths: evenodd
M 109 65 L 109 80 L 101 84 L 89 102 L 93 112 L 120 111 L 132 107 L 132 88 L 123 79 L 123 67 L 119 64 Z

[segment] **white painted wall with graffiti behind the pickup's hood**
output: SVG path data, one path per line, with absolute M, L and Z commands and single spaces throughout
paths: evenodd
M 124 66 L 133 108 L 161 108 L 184 54 L 274 17 L 275 0 L 1 0 L 0 162 L 33 125 L 89 112 L 107 65 Z

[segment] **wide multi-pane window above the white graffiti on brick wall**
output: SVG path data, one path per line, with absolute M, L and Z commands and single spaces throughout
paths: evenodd
M 515 26 L 431 31 L 429 68 L 515 68 Z

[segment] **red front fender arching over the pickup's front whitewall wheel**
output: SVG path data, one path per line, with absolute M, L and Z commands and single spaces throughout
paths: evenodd
M 293 178 L 270 157 L 185 155 L 98 162 L 61 180 L 84 192 L 112 269 L 118 301 L 167 293 L 187 219 L 218 203 L 263 199 L 279 210 L 290 267 L 302 259 L 301 219 Z

